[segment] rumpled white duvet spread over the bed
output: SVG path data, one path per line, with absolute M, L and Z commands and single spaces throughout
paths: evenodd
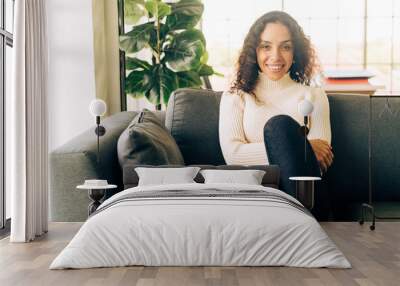
M 262 186 L 179 184 L 135 187 L 105 201 L 50 269 L 146 266 L 294 266 L 350 268 L 309 214 L 279 200 L 235 197 L 119 198 L 133 192 L 262 190 Z M 137 193 L 135 193 L 137 194 Z

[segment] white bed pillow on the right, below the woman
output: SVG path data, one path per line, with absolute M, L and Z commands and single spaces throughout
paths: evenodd
M 261 170 L 202 170 L 205 184 L 234 183 L 246 185 L 261 185 L 265 171 Z

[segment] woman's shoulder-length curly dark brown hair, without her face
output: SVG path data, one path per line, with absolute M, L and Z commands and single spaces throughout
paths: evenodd
M 298 83 L 310 84 L 311 77 L 318 69 L 318 60 L 309 38 L 292 16 L 282 11 L 271 11 L 258 18 L 251 26 L 239 55 L 236 79 L 231 91 L 241 90 L 253 94 L 259 72 L 257 47 L 260 44 L 261 33 L 268 23 L 281 23 L 288 28 L 294 47 L 290 77 Z

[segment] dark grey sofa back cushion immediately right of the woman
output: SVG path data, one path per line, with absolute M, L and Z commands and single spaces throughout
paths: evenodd
M 351 94 L 329 96 L 335 157 L 326 179 L 335 205 L 368 200 L 368 100 Z

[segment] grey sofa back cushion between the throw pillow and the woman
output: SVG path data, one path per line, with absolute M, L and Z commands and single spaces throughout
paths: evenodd
M 218 136 L 221 94 L 185 88 L 176 90 L 169 99 L 165 126 L 187 165 L 225 164 Z

